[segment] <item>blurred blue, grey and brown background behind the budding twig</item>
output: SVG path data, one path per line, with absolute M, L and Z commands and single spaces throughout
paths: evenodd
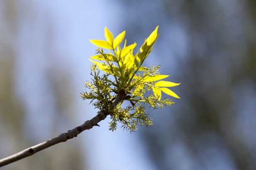
M 88 58 L 126 30 L 161 34 L 145 65 L 161 65 L 181 99 L 147 110 L 154 126 L 100 127 L 3 170 L 255 170 L 255 0 L 0 0 L 0 158 L 97 114 L 82 101 Z M 138 48 L 137 48 L 138 49 Z

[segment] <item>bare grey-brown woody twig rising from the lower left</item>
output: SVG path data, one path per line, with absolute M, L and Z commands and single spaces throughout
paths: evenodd
M 121 103 L 125 96 L 126 96 L 126 94 L 125 94 L 124 90 L 120 90 L 115 101 L 110 105 L 109 110 L 113 110 L 114 108 L 116 108 L 118 103 Z M 41 144 L 37 144 L 30 148 L 24 149 L 23 151 L 20 151 L 19 153 L 15 153 L 12 156 L 1 159 L 0 167 L 8 165 L 10 163 L 13 163 L 17 160 L 21 160 L 28 156 L 32 156 L 35 153 L 42 151 L 43 149 L 46 149 L 50 146 L 56 145 L 60 142 L 65 142 L 68 139 L 72 139 L 73 137 L 76 137 L 78 134 L 80 134 L 81 132 L 83 132 L 85 130 L 92 129 L 92 127 L 94 127 L 94 126 L 99 126 L 98 123 L 101 120 L 104 120 L 107 115 L 109 115 L 109 112 L 108 112 L 109 110 L 106 108 L 104 111 L 99 112 L 98 115 L 93 117 L 91 120 L 87 120 L 84 124 L 82 124 L 78 127 L 75 127 L 72 130 L 68 130 L 68 132 L 62 133 L 53 139 L 49 139 L 48 141 L 44 141 Z

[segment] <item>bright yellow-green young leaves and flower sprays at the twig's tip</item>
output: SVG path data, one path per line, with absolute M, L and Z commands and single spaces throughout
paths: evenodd
M 112 131 L 116 130 L 118 122 L 130 132 L 134 132 L 137 125 L 146 127 L 153 125 L 151 118 L 145 113 L 145 104 L 148 103 L 154 109 L 174 104 L 167 98 L 161 100 L 162 92 L 179 98 L 167 88 L 179 84 L 159 81 L 169 77 L 169 75 L 161 75 L 158 72 L 160 66 L 142 66 L 160 34 L 160 32 L 157 33 L 157 30 L 158 26 L 145 39 L 135 55 L 133 55 L 133 50 L 137 46 L 136 43 L 127 46 L 125 40 L 123 48 L 120 47 L 120 43 L 125 37 L 125 31 L 114 38 L 113 34 L 105 27 L 106 41 L 90 40 L 99 48 L 97 48 L 97 55 L 89 59 L 93 63 L 91 65 L 92 81 L 85 81 L 85 87 L 89 89 L 89 92 L 82 92 L 81 97 L 84 100 L 91 99 L 91 103 L 99 111 L 108 111 L 111 116 L 109 129 Z M 105 53 L 103 48 L 107 49 L 108 53 Z M 99 70 L 105 73 L 100 75 Z M 145 93 L 151 90 L 153 93 L 146 96 Z M 115 108 L 110 109 L 110 105 L 121 91 L 125 92 L 124 99 Z M 126 107 L 123 106 L 124 101 L 128 101 Z

